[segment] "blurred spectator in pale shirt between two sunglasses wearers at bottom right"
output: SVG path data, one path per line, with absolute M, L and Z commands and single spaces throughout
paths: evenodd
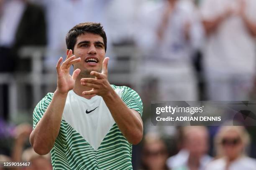
M 207 155 L 207 129 L 204 126 L 187 126 L 182 131 L 184 146 L 177 155 L 167 160 L 167 165 L 172 170 L 204 170 L 212 159 Z

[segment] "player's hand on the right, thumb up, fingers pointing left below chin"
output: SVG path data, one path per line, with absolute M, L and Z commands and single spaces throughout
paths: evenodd
M 82 78 L 81 85 L 92 87 L 90 91 L 82 92 L 83 95 L 99 95 L 104 97 L 109 94 L 112 87 L 108 82 L 108 60 L 106 57 L 102 62 L 102 72 L 92 71 L 90 74 L 94 75 L 95 78 Z

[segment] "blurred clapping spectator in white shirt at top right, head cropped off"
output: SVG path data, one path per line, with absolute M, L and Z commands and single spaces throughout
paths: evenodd
M 203 0 L 209 100 L 248 100 L 256 67 L 256 1 Z

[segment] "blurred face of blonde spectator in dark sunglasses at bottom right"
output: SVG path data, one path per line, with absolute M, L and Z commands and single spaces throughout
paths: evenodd
M 223 135 L 222 140 L 220 140 L 223 149 L 223 154 L 229 158 L 229 160 L 234 160 L 240 156 L 243 152 L 243 142 L 241 136 L 236 131 L 229 131 Z

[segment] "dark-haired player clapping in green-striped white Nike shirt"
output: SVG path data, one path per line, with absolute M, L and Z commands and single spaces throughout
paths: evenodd
M 143 136 L 140 97 L 109 84 L 107 38 L 99 23 L 76 25 L 66 43 L 70 50 L 56 65 L 56 91 L 34 110 L 31 145 L 40 155 L 51 151 L 54 170 L 132 169 L 132 144 Z

